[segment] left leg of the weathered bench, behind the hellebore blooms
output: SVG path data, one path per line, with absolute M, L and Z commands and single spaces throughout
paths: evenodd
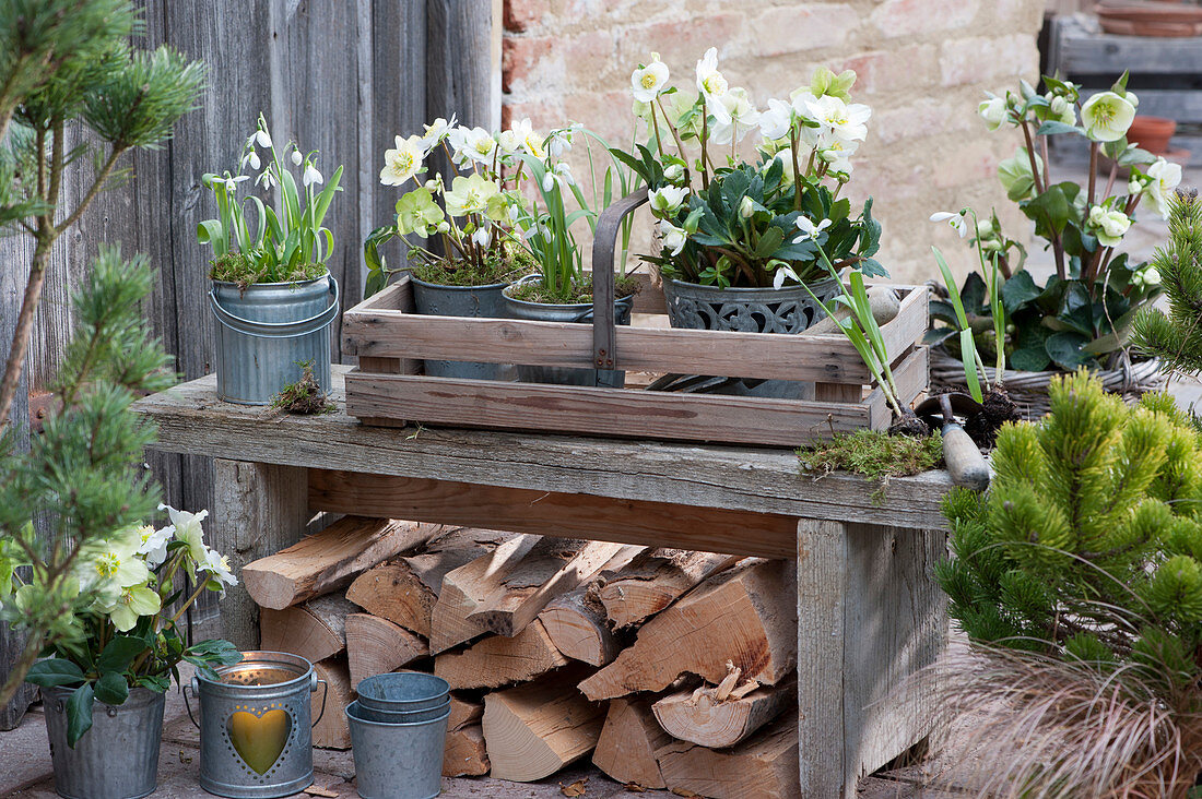
M 212 544 L 234 574 L 252 560 L 296 543 L 309 521 L 309 476 L 298 466 L 214 459 Z M 221 634 L 243 650 L 258 648 L 258 607 L 242 584 L 219 604 Z

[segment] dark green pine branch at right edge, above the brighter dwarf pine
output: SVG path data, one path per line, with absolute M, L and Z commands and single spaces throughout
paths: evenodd
M 1178 193 L 1170 205 L 1168 244 L 1153 267 L 1160 273 L 1168 314 L 1154 308 L 1135 318 L 1132 341 L 1170 369 L 1202 372 L 1202 202 Z

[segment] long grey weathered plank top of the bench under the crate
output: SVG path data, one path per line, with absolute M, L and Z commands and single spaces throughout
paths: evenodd
M 344 374 L 344 368 L 334 370 L 338 394 Z M 789 449 L 393 430 L 359 424 L 341 411 L 278 417 L 218 403 L 210 377 L 144 398 L 135 407 L 159 422 L 156 446 L 168 452 L 816 519 L 941 527 L 939 502 L 951 488 L 941 471 L 895 478 L 888 505 L 876 505 L 869 481 L 844 473 L 804 476 Z

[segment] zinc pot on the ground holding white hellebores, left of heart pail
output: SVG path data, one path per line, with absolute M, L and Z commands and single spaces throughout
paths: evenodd
M 94 702 L 91 729 L 67 746 L 66 702 L 75 688 L 42 688 L 54 791 L 66 799 L 137 799 L 159 775 L 163 694 L 133 688 L 119 705 Z

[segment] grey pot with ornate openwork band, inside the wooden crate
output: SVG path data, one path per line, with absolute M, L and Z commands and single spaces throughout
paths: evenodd
M 833 278 L 809 284 L 823 303 L 839 291 Z M 780 288 L 721 288 L 664 278 L 668 322 L 694 330 L 796 334 L 826 314 L 804 286 Z M 734 381 L 716 393 L 785 399 L 814 399 L 814 383 L 790 380 Z

